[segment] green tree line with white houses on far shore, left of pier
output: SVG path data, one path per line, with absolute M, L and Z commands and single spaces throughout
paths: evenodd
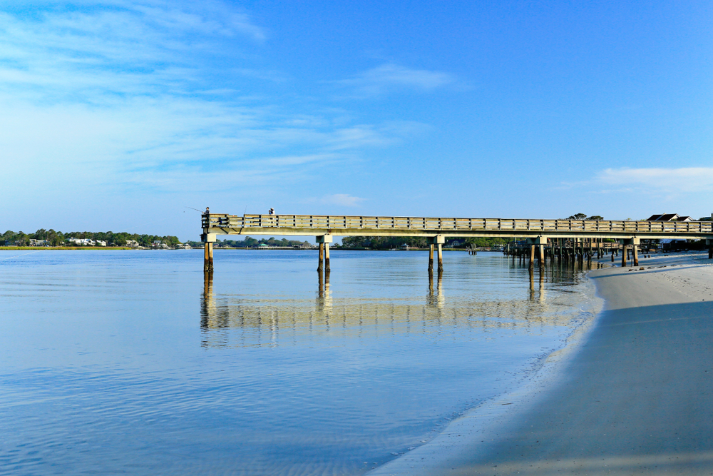
M 35 233 L 8 230 L 0 235 L 0 245 L 11 246 L 17 243 L 20 246 L 29 246 L 30 240 L 47 240 L 51 246 L 62 246 L 68 244 L 69 238 L 106 241 L 108 246 L 125 246 L 128 240 L 135 240 L 140 246 L 145 247 L 150 247 L 154 241 L 162 241 L 170 247 L 180 244 L 178 238 L 170 235 L 140 235 L 138 233 L 114 233 L 113 231 L 71 231 L 63 233 L 52 229 L 45 230 L 40 228 Z

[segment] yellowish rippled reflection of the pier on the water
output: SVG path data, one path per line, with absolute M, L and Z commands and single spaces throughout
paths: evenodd
M 200 327 L 204 346 L 289 345 L 298 336 L 379 337 L 384 333 L 457 333 L 458 328 L 523 328 L 568 325 L 560 312 L 563 293 L 545 300 L 545 273 L 530 272 L 530 296 L 488 300 L 456 293 L 446 299 L 443 274 L 429 275 L 424 298 L 340 298 L 330 288 L 329 273 L 318 273 L 314 299 L 274 295 L 215 295 L 212 273 L 204 274 Z M 525 278 L 526 279 L 526 278 Z M 571 280 L 570 270 L 550 270 L 548 281 Z

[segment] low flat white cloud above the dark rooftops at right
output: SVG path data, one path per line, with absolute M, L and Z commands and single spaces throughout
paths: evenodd
M 607 168 L 597 175 L 596 181 L 628 191 L 713 191 L 713 167 Z

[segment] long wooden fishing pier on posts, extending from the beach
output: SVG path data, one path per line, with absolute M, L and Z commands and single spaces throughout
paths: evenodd
M 530 266 L 535 258 L 545 263 L 545 248 L 550 256 L 563 258 L 571 247 L 590 250 L 621 247 L 622 265 L 631 254 L 638 265 L 641 240 L 665 238 L 705 239 L 709 258 L 713 255 L 711 221 L 612 221 L 612 220 L 532 220 L 522 218 L 429 218 L 401 216 L 327 216 L 327 215 L 227 215 L 203 214 L 202 241 L 205 243 L 203 269 L 213 269 L 212 243 L 217 235 L 315 236 L 319 243 L 318 270 L 329 271 L 329 243 L 334 236 L 421 236 L 429 242 L 429 271 L 434 269 L 437 250 L 438 271 L 443 270 L 443 244 L 446 238 L 500 237 L 528 240 Z M 617 240 L 617 248 L 606 248 L 603 239 Z M 568 243 L 572 243 L 568 245 Z M 597 243 L 595 245 L 595 243 Z M 435 249 L 434 249 L 435 248 Z M 553 250 L 559 250 L 555 254 Z M 535 252 L 538 252 L 535 255 Z M 576 255 L 585 255 L 575 253 Z M 612 260 L 614 255 L 612 254 Z

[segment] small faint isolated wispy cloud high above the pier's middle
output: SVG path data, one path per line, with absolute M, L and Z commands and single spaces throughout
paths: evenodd
M 396 64 L 384 64 L 364 71 L 352 79 L 336 81 L 342 86 L 354 88 L 359 94 L 376 96 L 390 91 L 433 91 L 455 83 L 454 76 L 441 71 L 408 69 Z

